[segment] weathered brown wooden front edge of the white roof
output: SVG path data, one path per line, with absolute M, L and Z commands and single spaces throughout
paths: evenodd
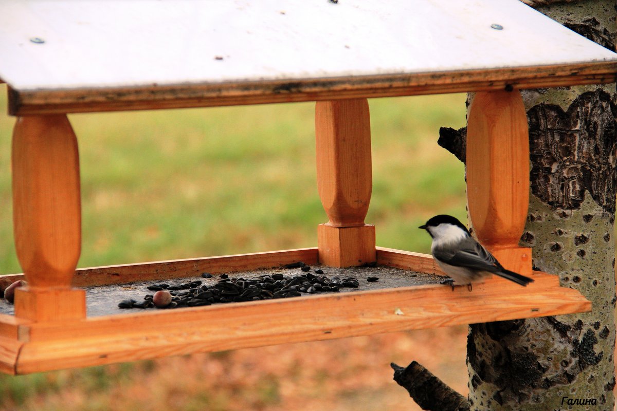
M 617 62 L 406 73 L 245 83 L 177 84 L 100 89 L 9 87 L 9 114 L 107 112 L 215 107 L 331 99 L 397 97 L 467 91 L 615 83 Z

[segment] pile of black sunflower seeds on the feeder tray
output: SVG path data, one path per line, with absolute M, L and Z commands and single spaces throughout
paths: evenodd
M 295 262 L 286 268 L 299 268 L 302 274 L 284 275 L 267 274 L 258 277 L 230 278 L 228 274 L 218 276 L 216 283 L 203 284 L 199 280 L 182 283 L 159 283 L 149 285 L 150 291 L 167 290 L 172 295 L 172 303 L 165 308 L 199 307 L 219 303 L 240 303 L 242 301 L 259 301 L 262 299 L 291 298 L 302 293 L 336 293 L 341 288 L 358 288 L 360 282 L 356 277 L 326 277 L 321 269 L 312 274 L 311 267 L 304 262 Z M 317 274 L 317 275 L 316 275 Z M 213 278 L 212 274 L 204 273 L 205 279 Z M 367 281 L 375 282 L 377 277 L 368 277 Z M 124 299 L 120 308 L 152 308 L 154 295 L 147 294 L 143 301 Z

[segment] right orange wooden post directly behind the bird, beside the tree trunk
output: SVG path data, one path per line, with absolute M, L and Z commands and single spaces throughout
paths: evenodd
M 518 91 L 478 92 L 467 122 L 467 201 L 478 240 L 502 265 L 531 274 L 519 247 L 529 205 L 529 135 Z

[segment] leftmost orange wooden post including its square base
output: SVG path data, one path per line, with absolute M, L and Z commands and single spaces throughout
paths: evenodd
M 85 291 L 72 288 L 81 252 L 79 159 L 66 115 L 18 118 L 12 171 L 15 248 L 28 282 L 15 290 L 15 315 L 83 318 Z

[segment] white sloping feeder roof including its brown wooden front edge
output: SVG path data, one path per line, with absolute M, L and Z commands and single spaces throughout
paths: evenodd
M 617 54 L 518 0 L 5 0 L 0 56 L 13 113 L 608 83 L 617 71 Z

